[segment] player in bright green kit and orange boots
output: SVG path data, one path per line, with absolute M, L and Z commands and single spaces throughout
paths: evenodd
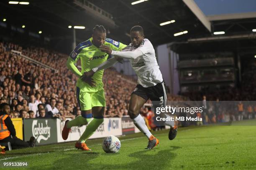
M 75 144 L 75 147 L 81 150 L 90 150 L 85 144 L 85 141 L 103 122 L 103 115 L 105 112 L 106 100 L 102 82 L 104 70 L 98 71 L 90 78 L 93 80 L 90 85 L 86 83 L 89 82 L 86 81 L 88 79 L 86 72 L 108 59 L 108 54 L 99 49 L 101 45 L 107 45 L 112 50 L 116 51 L 121 51 L 126 47 L 126 45 L 120 42 L 106 38 L 105 28 L 102 25 L 96 25 L 95 28 L 93 28 L 92 37 L 77 45 L 67 60 L 67 67 L 69 70 L 79 77 L 77 80 L 77 102 L 82 114 L 81 116 L 77 116 L 74 120 L 67 120 L 65 122 L 62 130 L 62 138 L 67 140 L 71 127 L 87 125 L 89 123 L 84 133 Z M 74 65 L 79 58 L 82 65 L 81 72 Z M 114 62 L 117 61 L 115 60 Z

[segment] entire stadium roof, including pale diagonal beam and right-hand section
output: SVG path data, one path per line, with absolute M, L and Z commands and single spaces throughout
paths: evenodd
M 256 18 L 250 17 L 255 13 L 206 16 L 194 0 L 147 0 L 131 5 L 134 1 L 30 0 L 29 5 L 10 5 L 8 0 L 1 0 L 0 17 L 1 20 L 7 18 L 7 23 L 16 27 L 24 24 L 30 31 L 42 30 L 42 35 L 50 37 L 56 44 L 72 42 L 73 32 L 69 25 L 86 27 L 76 31 L 77 42 L 86 40 L 92 34 L 92 28 L 102 24 L 108 30 L 108 37 L 126 44 L 130 42 L 131 27 L 141 25 L 146 38 L 155 46 L 168 42 L 195 42 L 199 38 L 215 37 L 215 31 L 225 31 L 225 36 L 251 34 L 256 28 Z M 99 15 L 99 11 L 107 17 Z M 175 22 L 159 25 L 171 20 Z M 188 32 L 174 36 L 184 31 Z

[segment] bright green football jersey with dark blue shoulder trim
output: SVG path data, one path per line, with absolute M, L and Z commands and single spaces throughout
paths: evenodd
M 121 51 L 127 46 L 109 38 L 106 38 L 104 45 L 109 46 L 111 50 L 115 51 Z M 81 74 L 92 70 L 92 68 L 97 67 L 102 62 L 108 60 L 108 54 L 102 52 L 99 48 L 92 44 L 92 37 L 87 41 L 79 43 L 79 45 L 77 45 L 74 51 L 70 54 L 70 57 L 74 60 L 74 63 L 79 59 L 81 60 Z M 92 79 L 96 83 L 102 82 L 103 72 L 104 70 L 95 72 Z M 87 84 L 82 80 L 77 80 L 77 87 L 83 88 L 85 85 Z

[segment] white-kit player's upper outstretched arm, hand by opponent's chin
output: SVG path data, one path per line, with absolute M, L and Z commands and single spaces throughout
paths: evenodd
M 106 52 L 108 54 L 114 55 L 115 57 L 128 58 L 128 59 L 135 59 L 135 58 L 143 55 L 143 52 L 141 50 L 113 51 L 110 49 L 110 47 L 108 47 L 106 45 L 100 46 L 100 50 L 103 52 Z

